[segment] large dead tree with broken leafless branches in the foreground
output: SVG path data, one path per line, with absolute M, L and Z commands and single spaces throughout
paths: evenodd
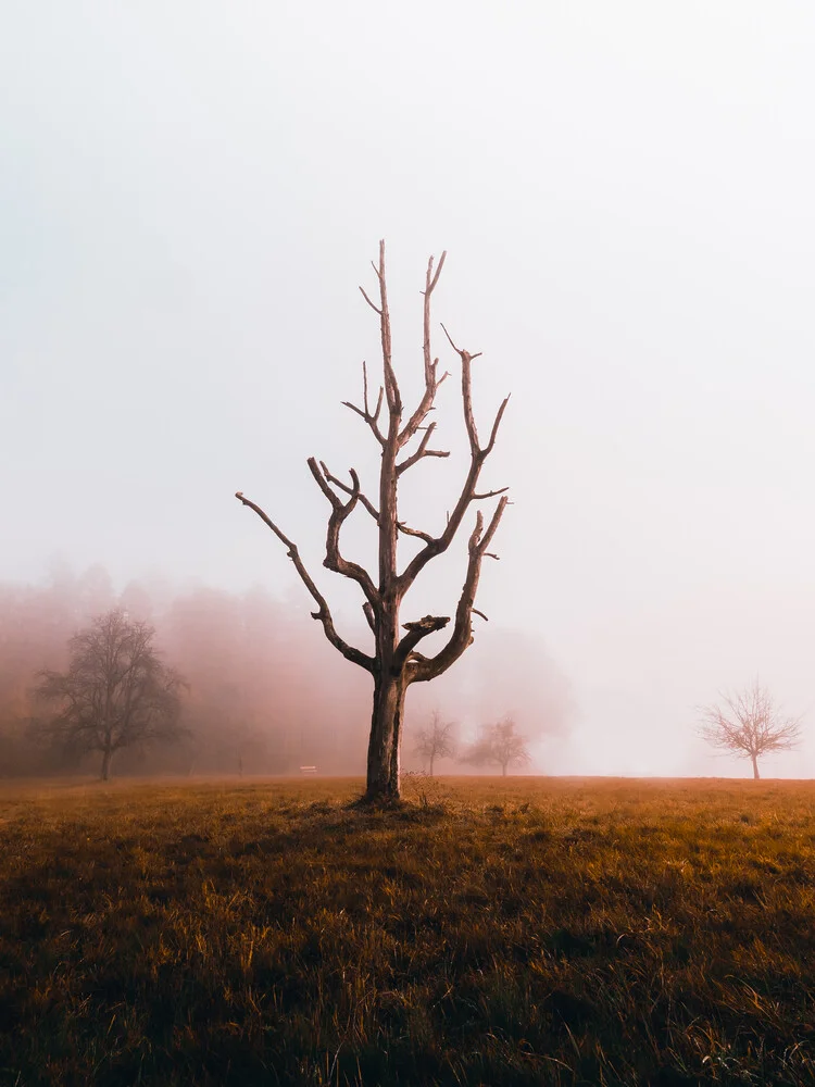
M 461 398 L 464 426 L 469 445 L 469 465 L 455 504 L 450 510 L 447 523 L 436 534 L 413 528 L 399 516 L 398 491 L 402 475 L 419 461 L 430 457 L 448 457 L 449 452 L 431 446 L 436 422 L 425 424 L 434 410 L 436 395 L 449 376 L 439 374 L 439 360 L 434 358 L 430 343 L 430 300 L 439 282 L 446 253 L 441 254 L 438 266 L 430 258 L 424 289 L 424 377 L 425 388 L 418 403 L 406 412 L 397 380 L 392 361 L 390 312 L 385 277 L 385 242 L 379 242 L 379 263 L 374 265 L 378 287 L 378 304 L 364 288 L 362 296 L 379 318 L 381 341 L 383 384 L 375 403 L 368 396 L 367 367 L 363 363 L 362 407 L 344 402 L 344 407 L 355 412 L 366 424 L 379 447 L 381 464 L 379 468 L 378 502 L 374 502 L 362 490 L 358 473 L 351 468 L 350 483 L 339 479 L 329 472 L 323 461 L 310 458 L 308 464 L 315 483 L 328 501 L 331 512 L 328 517 L 326 557 L 323 565 L 335 573 L 356 582 L 365 598 L 362 605 L 365 619 L 374 635 L 374 651 L 365 653 L 351 646 L 338 634 L 328 603 L 309 574 L 296 544 L 290 540 L 266 513 L 238 491 L 236 497 L 258 514 L 286 547 L 300 579 L 305 585 L 317 610 L 313 619 L 323 624 L 325 636 L 342 655 L 369 672 L 374 679 L 374 705 L 367 757 L 368 800 L 396 800 L 400 795 L 400 762 L 404 699 L 408 687 L 414 683 L 427 683 L 446 672 L 473 641 L 473 615 L 480 614 L 475 609 L 476 590 L 481 570 L 481 560 L 491 554 L 489 547 L 506 508 L 507 487 L 496 490 L 478 490 L 478 482 L 484 464 L 492 452 L 498 430 L 503 418 L 509 397 L 502 401 L 496 413 L 490 436 L 481 445 L 473 414 L 472 364 L 475 354 L 459 348 L 442 325 L 444 335 L 461 361 Z M 416 442 L 412 451 L 409 447 Z M 474 503 L 498 497 L 498 502 L 485 524 L 480 509 L 477 510 L 467 545 L 468 559 L 464 586 L 453 619 L 452 633 L 443 647 L 432 655 L 418 651 L 424 638 L 444 629 L 450 623 L 449 615 L 425 615 L 400 624 L 400 610 L 405 595 L 431 559 L 443 554 L 452 544 L 464 518 Z M 372 576 L 355 562 L 344 558 L 340 551 L 340 530 L 348 517 L 362 509 L 373 520 L 378 530 L 378 570 Z M 398 565 L 398 544 L 406 537 L 417 550 L 400 571 Z M 402 630 L 405 633 L 403 634 Z

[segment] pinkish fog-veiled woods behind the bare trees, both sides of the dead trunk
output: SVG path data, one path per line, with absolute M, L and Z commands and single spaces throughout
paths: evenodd
M 66 759 L 36 744 L 30 719 L 48 716 L 33 697 L 36 674 L 63 670 L 67 642 L 95 616 L 117 608 L 129 622 L 155 629 L 161 659 L 185 680 L 176 742 L 131 744 L 114 754 L 114 774 L 170 773 L 226 777 L 299 774 L 359 775 L 371 727 L 371 682 L 322 637 L 305 609 L 261 589 L 230 594 L 204 586 L 172 590 L 166 583 L 131 582 L 116 594 L 101 566 L 74 575 L 57 566 L 35 586 L 0 585 L 0 776 L 67 771 L 97 773 L 95 751 Z M 317 632 L 318 633 L 318 632 Z M 364 632 L 358 632 L 364 644 Z M 484 637 L 496 671 L 465 657 L 432 685 L 422 685 L 406 714 L 403 764 L 426 770 L 415 752 L 418 732 L 438 711 L 455 721 L 463 748 L 485 722 L 513 714 L 536 761 L 567 734 L 574 719 L 570 686 L 532 637 L 501 628 Z M 472 664 L 471 664 L 472 661 Z M 473 772 L 450 759 L 437 772 Z

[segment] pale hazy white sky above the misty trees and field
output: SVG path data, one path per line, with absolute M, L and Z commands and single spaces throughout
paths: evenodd
M 376 359 L 356 285 L 387 238 L 410 388 L 446 248 L 482 425 L 513 393 L 479 607 L 580 707 L 551 765 L 738 770 L 693 705 L 757 673 L 813 708 L 766 771 L 815 773 L 813 55 L 815 8 L 778 0 L 8 0 L 0 577 L 288 589 L 238 488 L 319 571 L 305 458 L 376 467 L 339 407 Z M 439 408 L 455 448 L 453 382 Z M 435 527 L 461 464 L 414 472 Z

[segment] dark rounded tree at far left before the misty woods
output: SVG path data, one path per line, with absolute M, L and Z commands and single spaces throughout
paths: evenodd
M 99 751 L 100 774 L 110 776 L 121 748 L 174 740 L 184 680 L 153 647 L 152 627 L 114 609 L 68 641 L 66 672 L 43 670 L 34 694 L 58 712 L 37 732 L 68 754 Z

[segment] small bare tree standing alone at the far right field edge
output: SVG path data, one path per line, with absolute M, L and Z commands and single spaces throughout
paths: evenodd
M 801 741 L 801 719 L 785 716 L 757 679 L 735 695 L 722 695 L 722 704 L 702 707 L 700 715 L 700 736 L 713 747 L 749 758 L 755 780 L 761 755 L 789 751 Z

